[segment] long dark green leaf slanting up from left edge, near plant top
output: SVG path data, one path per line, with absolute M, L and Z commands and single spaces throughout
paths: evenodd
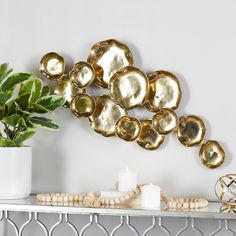
M 6 92 L 8 90 L 13 90 L 17 84 L 28 80 L 31 77 L 30 74 L 26 73 L 15 73 L 12 76 L 8 77 L 2 84 L 2 91 Z

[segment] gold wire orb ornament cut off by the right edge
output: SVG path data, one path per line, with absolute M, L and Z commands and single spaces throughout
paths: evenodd
M 236 209 L 236 174 L 221 176 L 215 185 L 215 193 L 219 201 L 229 208 Z

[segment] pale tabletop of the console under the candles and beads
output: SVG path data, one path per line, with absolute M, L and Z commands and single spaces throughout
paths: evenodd
M 221 204 L 210 202 L 208 208 L 198 210 L 164 210 L 143 209 L 139 206 L 125 208 L 117 206 L 114 208 L 89 208 L 83 206 L 49 206 L 36 203 L 35 196 L 21 200 L 0 200 L 1 211 L 22 211 L 38 213 L 68 213 L 68 214 L 101 214 L 101 215 L 129 215 L 129 216 L 160 216 L 160 217 L 190 217 L 211 219 L 236 219 L 236 213 L 221 212 Z

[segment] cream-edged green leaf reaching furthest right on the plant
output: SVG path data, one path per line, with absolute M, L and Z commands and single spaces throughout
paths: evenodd
M 49 111 L 54 111 L 58 107 L 61 107 L 65 103 L 65 98 L 58 95 L 50 95 L 42 97 L 38 100 L 38 104 L 42 105 Z

